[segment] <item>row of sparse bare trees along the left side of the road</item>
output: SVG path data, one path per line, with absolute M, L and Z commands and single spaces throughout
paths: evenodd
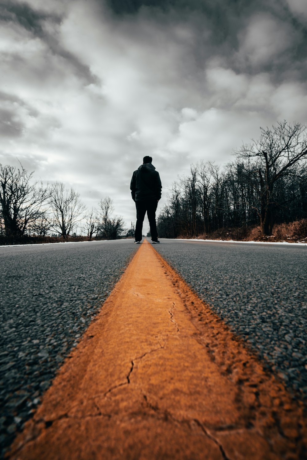
M 0 164 L 0 236 L 16 239 L 25 235 L 47 236 L 52 231 L 63 239 L 73 236 L 83 223 L 91 240 L 129 236 L 121 216 L 114 215 L 113 200 L 106 196 L 90 212 L 73 188 L 62 182 L 43 186 L 34 172 Z

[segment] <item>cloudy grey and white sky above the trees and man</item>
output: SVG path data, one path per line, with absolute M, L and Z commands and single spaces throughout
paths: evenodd
M 163 206 L 191 163 L 307 121 L 306 0 L 1 0 L 0 20 L 0 163 L 127 226 L 144 155 Z

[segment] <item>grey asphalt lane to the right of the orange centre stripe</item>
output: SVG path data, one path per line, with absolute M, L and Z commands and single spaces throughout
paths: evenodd
M 307 247 L 161 240 L 154 248 L 307 403 Z

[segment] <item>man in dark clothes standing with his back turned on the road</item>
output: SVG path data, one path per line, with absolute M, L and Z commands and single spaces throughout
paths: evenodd
M 151 164 L 151 156 L 144 156 L 143 164 L 132 174 L 130 190 L 133 201 L 136 203 L 136 231 L 135 243 L 142 240 L 143 221 L 147 211 L 151 239 L 159 243 L 156 225 L 156 209 L 161 198 L 161 180 L 158 171 Z

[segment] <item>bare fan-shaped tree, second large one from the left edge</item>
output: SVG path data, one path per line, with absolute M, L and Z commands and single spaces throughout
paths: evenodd
M 52 228 L 67 238 L 85 212 L 79 193 L 73 188 L 66 189 L 62 182 L 56 182 L 51 185 L 49 204 L 54 217 Z

